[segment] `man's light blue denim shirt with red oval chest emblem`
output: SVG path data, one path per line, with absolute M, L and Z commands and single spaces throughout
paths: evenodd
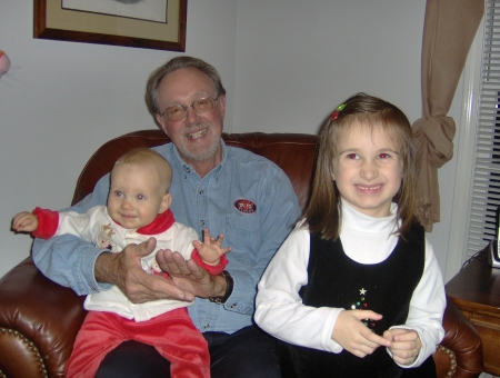
M 173 143 L 153 150 L 172 166 L 170 192 L 176 220 L 194 228 L 200 240 L 204 228 L 213 236 L 223 233 L 224 246 L 232 247 L 227 267 L 234 280 L 232 294 L 224 305 L 197 298 L 189 307 L 194 325 L 201 331 L 224 332 L 251 325 L 257 284 L 300 216 L 290 180 L 266 158 L 223 142 L 222 162 L 203 179 L 181 159 Z M 84 212 L 96 205 L 104 205 L 108 190 L 109 175 L 71 210 Z M 93 276 L 102 249 L 73 236 L 33 242 L 37 267 L 78 295 L 110 287 L 98 284 Z

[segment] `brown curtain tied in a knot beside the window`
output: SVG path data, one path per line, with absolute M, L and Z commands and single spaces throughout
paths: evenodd
M 413 123 L 419 177 L 417 219 L 432 231 L 440 220 L 438 168 L 453 157 L 454 121 L 447 117 L 484 0 L 427 0 L 422 42 L 422 111 Z

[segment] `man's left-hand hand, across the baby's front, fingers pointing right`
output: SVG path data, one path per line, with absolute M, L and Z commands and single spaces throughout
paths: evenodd
M 140 245 L 129 245 L 120 253 L 101 253 L 96 260 L 94 275 L 99 282 L 116 285 L 133 304 L 158 299 L 191 301 L 194 296 L 177 287 L 161 275 L 148 275 L 141 258 L 154 250 L 157 240 L 150 238 Z

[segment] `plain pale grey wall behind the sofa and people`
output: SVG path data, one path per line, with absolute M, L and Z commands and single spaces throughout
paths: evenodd
M 207 59 L 228 90 L 227 131 L 316 132 L 358 91 L 420 117 L 424 0 L 189 0 L 187 53 Z M 69 205 L 90 155 L 118 135 L 154 128 L 148 74 L 177 53 L 32 39 L 32 1 L 0 0 L 0 276 L 28 256 L 10 217 Z M 451 116 L 460 121 L 461 83 Z M 460 128 L 460 126 L 459 126 Z M 456 142 L 460 138 L 457 133 Z M 429 235 L 448 253 L 456 160 L 440 170 L 442 221 Z

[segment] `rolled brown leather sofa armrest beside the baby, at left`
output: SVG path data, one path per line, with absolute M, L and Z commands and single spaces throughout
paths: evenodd
M 64 377 L 84 297 L 46 278 L 29 257 L 0 279 L 0 377 Z M 2 376 L 3 374 L 3 376 Z

